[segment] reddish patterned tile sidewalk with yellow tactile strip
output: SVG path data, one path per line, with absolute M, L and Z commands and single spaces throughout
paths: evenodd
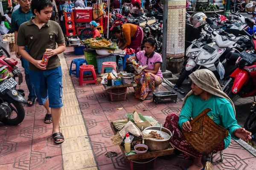
M 169 113 L 180 112 L 181 101 L 177 101 L 176 104 L 168 102 L 158 105 L 152 100 L 141 102 L 134 98 L 132 88 L 129 89 L 126 101 L 111 102 L 108 92 L 102 85 L 79 86 L 74 75 L 71 79 L 68 76 L 67 68 L 70 67 L 72 59 L 84 58 L 83 55 L 75 56 L 73 48 L 68 47 L 65 57 L 67 62 L 61 58 L 61 65 L 64 91 L 67 94 L 64 93 L 65 107 L 60 126 L 66 141 L 61 147 L 52 142 L 52 125 L 44 124 L 43 121 L 46 113 L 44 108 L 38 104 L 31 108 L 25 106 L 26 116 L 20 125 L 5 126 L 0 123 L 0 170 L 128 170 L 129 165 L 122 156 L 119 146 L 113 146 L 109 139 L 113 136 L 111 120 L 125 119 L 125 113 L 136 110 L 143 115 L 154 117 L 163 124 Z M 20 88 L 26 88 L 25 80 Z M 167 91 L 163 86 L 160 90 Z M 118 156 L 107 158 L 105 154 L 109 151 L 118 153 Z M 157 158 L 155 170 L 184 170 L 191 163 L 191 159 L 185 160 L 181 154 L 175 154 Z M 255 163 L 256 158 L 235 141 L 224 150 L 222 163 L 219 155 L 214 156 L 216 170 L 253 170 Z M 153 162 L 148 163 L 145 169 L 153 169 L 152 165 Z M 143 166 L 144 164 L 134 164 L 135 169 L 142 169 Z

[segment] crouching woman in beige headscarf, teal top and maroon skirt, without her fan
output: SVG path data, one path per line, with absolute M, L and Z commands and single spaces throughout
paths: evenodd
M 202 154 L 198 153 L 185 139 L 181 129 L 191 132 L 193 129 L 189 123 L 204 109 L 211 108 L 207 115 L 216 124 L 228 130 L 228 136 L 212 152 L 218 152 L 226 149 L 230 144 L 231 136 L 238 140 L 239 138 L 248 142 L 251 139 L 251 133 L 237 124 L 235 118 L 235 107 L 231 99 L 221 90 L 215 75 L 208 69 L 201 69 L 189 75 L 192 80 L 192 91 L 184 98 L 180 116 L 171 113 L 166 117 L 164 127 L 174 131 L 170 140 L 172 147 L 183 152 L 185 159 L 189 156 L 194 157 L 193 164 L 188 170 L 201 170 Z

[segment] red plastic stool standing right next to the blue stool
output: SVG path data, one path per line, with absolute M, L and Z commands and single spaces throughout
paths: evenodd
M 84 76 L 84 72 L 86 71 L 91 71 L 92 74 L 91 76 Z M 93 80 L 83 80 L 84 78 L 93 78 Z M 96 73 L 94 70 L 94 66 L 93 65 L 81 65 L 79 67 L 79 85 L 83 85 L 84 83 L 95 83 L 97 84 L 96 81 Z

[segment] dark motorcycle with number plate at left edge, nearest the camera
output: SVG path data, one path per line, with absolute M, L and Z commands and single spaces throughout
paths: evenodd
M 17 82 L 12 77 L 9 78 L 6 65 L 0 65 L 0 122 L 5 125 L 18 125 L 24 117 L 25 111 L 23 104 L 27 100 L 15 87 Z

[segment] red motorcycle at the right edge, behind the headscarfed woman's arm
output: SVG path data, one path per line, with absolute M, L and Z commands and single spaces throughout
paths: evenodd
M 250 28 L 254 23 L 250 19 L 246 19 Z M 235 95 L 240 97 L 250 97 L 256 95 L 256 36 L 250 36 L 252 48 L 249 51 L 242 51 L 237 54 L 239 59 L 236 61 L 237 68 L 230 75 L 227 82 L 224 82 L 222 90 L 232 99 Z M 256 133 L 256 102 L 247 117 L 244 124 L 246 130 Z

